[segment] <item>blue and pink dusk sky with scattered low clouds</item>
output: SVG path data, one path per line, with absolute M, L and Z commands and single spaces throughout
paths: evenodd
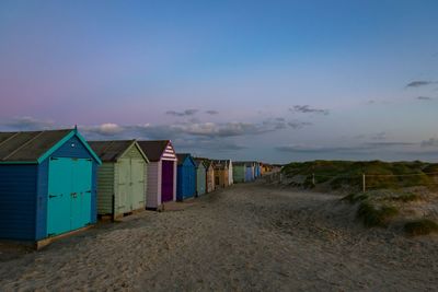
M 438 162 L 438 1 L 0 1 L 0 131 Z

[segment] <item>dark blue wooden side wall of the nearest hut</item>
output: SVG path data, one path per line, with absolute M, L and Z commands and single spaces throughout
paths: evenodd
M 0 237 L 35 240 L 37 165 L 0 165 Z

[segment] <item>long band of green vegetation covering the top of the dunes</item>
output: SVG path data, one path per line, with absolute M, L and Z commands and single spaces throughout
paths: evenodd
M 438 177 L 438 164 L 414 162 L 382 161 L 312 161 L 285 165 L 283 173 L 287 177 L 304 176 L 300 185 L 312 188 L 313 174 L 315 185 L 326 184 L 332 189 L 361 189 L 362 174 L 366 174 L 367 189 L 403 188 L 425 186 L 435 183 Z M 430 175 L 435 173 L 435 175 Z

